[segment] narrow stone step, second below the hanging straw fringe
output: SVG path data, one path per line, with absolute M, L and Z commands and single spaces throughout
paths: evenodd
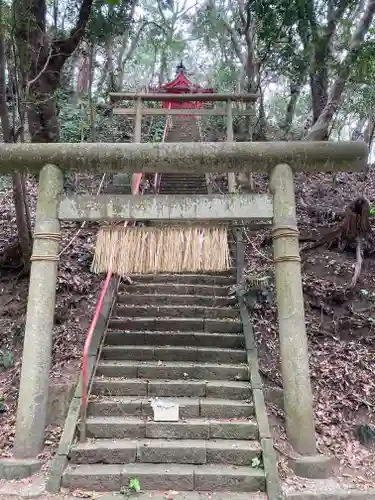
M 124 289 L 128 293 L 166 294 L 166 295 L 204 295 L 213 297 L 228 297 L 228 287 L 206 284 L 183 283 L 134 283 L 126 284 Z

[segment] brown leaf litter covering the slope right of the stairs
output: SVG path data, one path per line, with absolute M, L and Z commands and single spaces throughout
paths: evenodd
M 256 175 L 255 182 L 258 192 L 265 191 L 265 176 Z M 363 174 L 340 174 L 336 184 L 330 174 L 300 173 L 295 185 L 302 238 L 318 239 L 337 224 L 337 213 L 344 212 L 358 193 L 375 200 L 372 170 L 367 179 Z M 317 208 L 319 217 L 314 216 Z M 328 217 L 321 217 L 322 213 Z M 249 239 L 246 257 L 250 271 L 272 273 L 272 246 L 264 244 L 270 241 L 269 232 L 251 233 Z M 355 249 L 314 249 L 303 259 L 302 279 L 318 450 L 337 459 L 336 476 L 346 486 L 366 489 L 375 486 L 375 446 L 362 445 L 355 432 L 358 425 L 375 424 L 375 259 L 365 257 L 358 283 L 349 289 L 355 258 Z M 270 289 L 274 291 L 274 280 Z M 275 302 L 257 302 L 252 319 L 262 375 L 267 385 L 281 388 Z M 276 421 L 275 444 L 285 451 L 284 414 L 272 404 L 268 409 Z M 309 481 L 297 479 L 286 462 L 282 470 L 285 481 L 306 489 Z

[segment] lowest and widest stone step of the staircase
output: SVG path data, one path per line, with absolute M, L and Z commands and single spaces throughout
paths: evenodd
M 142 490 L 265 491 L 262 469 L 234 465 L 85 464 L 69 465 L 62 487 L 120 491 L 136 477 Z

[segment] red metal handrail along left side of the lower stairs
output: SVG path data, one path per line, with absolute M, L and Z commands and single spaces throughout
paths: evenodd
M 134 195 L 139 193 L 139 185 L 141 183 L 142 176 L 143 176 L 142 173 L 137 173 L 137 180 L 136 180 L 135 188 L 133 190 Z M 128 221 L 125 221 L 125 226 L 127 224 L 128 224 Z M 108 291 L 108 287 L 109 287 L 109 284 L 111 282 L 112 277 L 113 277 L 112 270 L 109 270 L 107 273 L 107 277 L 103 283 L 103 286 L 100 290 L 98 303 L 96 304 L 94 316 L 92 318 L 90 327 L 87 331 L 85 345 L 83 348 L 83 356 L 82 356 L 82 404 L 81 404 L 81 429 L 80 429 L 81 430 L 81 432 L 80 432 L 81 441 L 85 441 L 85 439 L 86 439 L 87 393 L 88 393 L 88 386 L 89 386 L 87 365 L 88 365 L 88 359 L 89 359 L 90 346 L 91 346 L 91 342 L 92 342 L 92 337 L 94 335 L 94 330 L 95 330 L 96 325 L 98 323 L 100 313 L 102 312 L 104 298 L 105 298 L 106 293 Z

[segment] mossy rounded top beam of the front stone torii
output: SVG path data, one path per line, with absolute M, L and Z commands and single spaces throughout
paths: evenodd
M 1 144 L 0 173 L 38 172 L 52 163 L 76 172 L 267 172 L 280 163 L 294 171 L 361 171 L 364 142 L 54 143 Z

